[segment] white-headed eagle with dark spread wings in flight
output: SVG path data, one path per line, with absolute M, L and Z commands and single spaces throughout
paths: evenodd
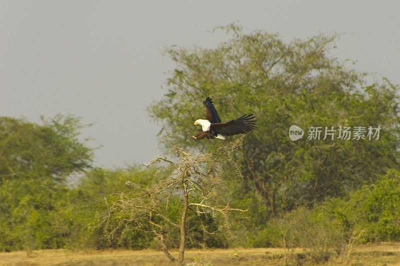
M 253 114 L 244 114 L 237 119 L 221 123 L 210 97 L 205 98 L 203 105 L 205 107 L 205 119 L 197 119 L 194 122 L 194 125 L 201 126 L 202 131 L 194 136 L 187 134 L 190 140 L 203 138 L 224 140 L 225 136 L 247 133 L 257 126 L 257 120 L 253 120 L 255 118 L 255 116 L 252 116 Z

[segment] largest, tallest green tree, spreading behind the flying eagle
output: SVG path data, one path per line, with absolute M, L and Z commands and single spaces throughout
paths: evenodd
M 256 192 L 273 216 L 343 195 L 387 168 L 399 169 L 397 87 L 386 79 L 367 85 L 363 73 L 332 57 L 336 35 L 284 43 L 277 34 L 243 33 L 235 24 L 221 28 L 233 36 L 214 49 L 165 50 L 176 68 L 167 79 L 168 93 L 148 109 L 163 123 L 159 135 L 165 148 L 178 144 L 210 152 L 224 145 L 190 142 L 182 134 L 203 117 L 201 101 L 207 96 L 222 120 L 254 113 L 258 128 L 246 135 L 235 159 L 243 186 Z M 305 140 L 305 133 L 294 142 L 288 138 L 291 125 L 305 131 L 333 126 L 336 135 Z M 380 127 L 379 140 L 339 139 L 340 126 Z

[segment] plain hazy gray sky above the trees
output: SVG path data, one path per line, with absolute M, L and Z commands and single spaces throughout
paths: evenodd
M 174 67 L 164 45 L 215 47 L 228 36 L 207 31 L 233 21 L 285 40 L 346 33 L 339 60 L 398 84 L 399 10 L 398 1 L 377 0 L 0 0 L 0 116 L 81 116 L 96 123 L 82 131 L 95 138 L 90 146 L 102 145 L 96 166 L 147 162 L 159 153 L 160 126 L 146 108 Z

